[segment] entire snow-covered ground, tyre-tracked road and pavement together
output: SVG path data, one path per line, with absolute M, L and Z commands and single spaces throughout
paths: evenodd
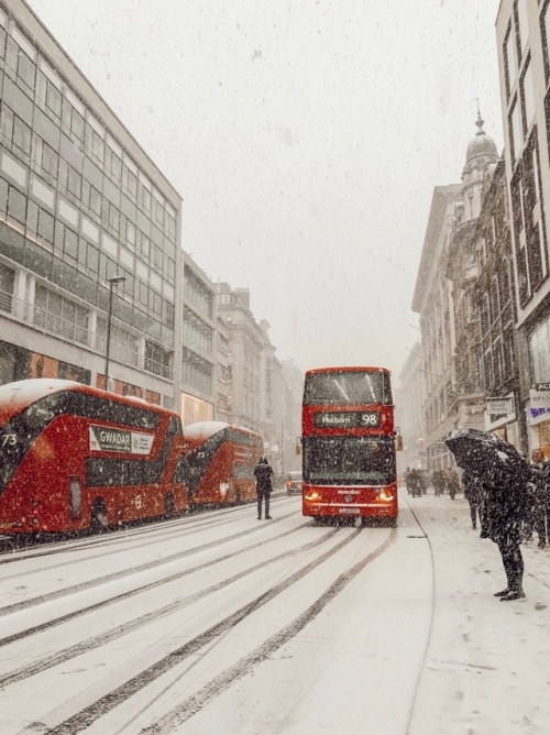
M 0 556 L 0 732 L 543 733 L 550 551 L 527 600 L 462 496 L 397 528 L 299 497 Z

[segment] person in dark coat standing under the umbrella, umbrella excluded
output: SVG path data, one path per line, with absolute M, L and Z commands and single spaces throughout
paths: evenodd
M 491 480 L 487 480 L 488 476 Z M 519 544 L 521 522 L 530 502 L 528 480 L 526 462 L 517 464 L 514 470 L 496 465 L 491 475 L 484 475 L 481 537 L 494 541 L 501 552 L 507 580 L 506 588 L 495 592 L 501 602 L 525 597 L 524 559 Z

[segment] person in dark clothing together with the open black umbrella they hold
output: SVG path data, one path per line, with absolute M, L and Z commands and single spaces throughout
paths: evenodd
M 493 434 L 455 429 L 446 443 L 457 464 L 472 470 L 483 483 L 481 537 L 498 546 L 507 581 L 495 597 L 501 602 L 522 600 L 520 526 L 529 511 L 529 468 L 515 447 Z

